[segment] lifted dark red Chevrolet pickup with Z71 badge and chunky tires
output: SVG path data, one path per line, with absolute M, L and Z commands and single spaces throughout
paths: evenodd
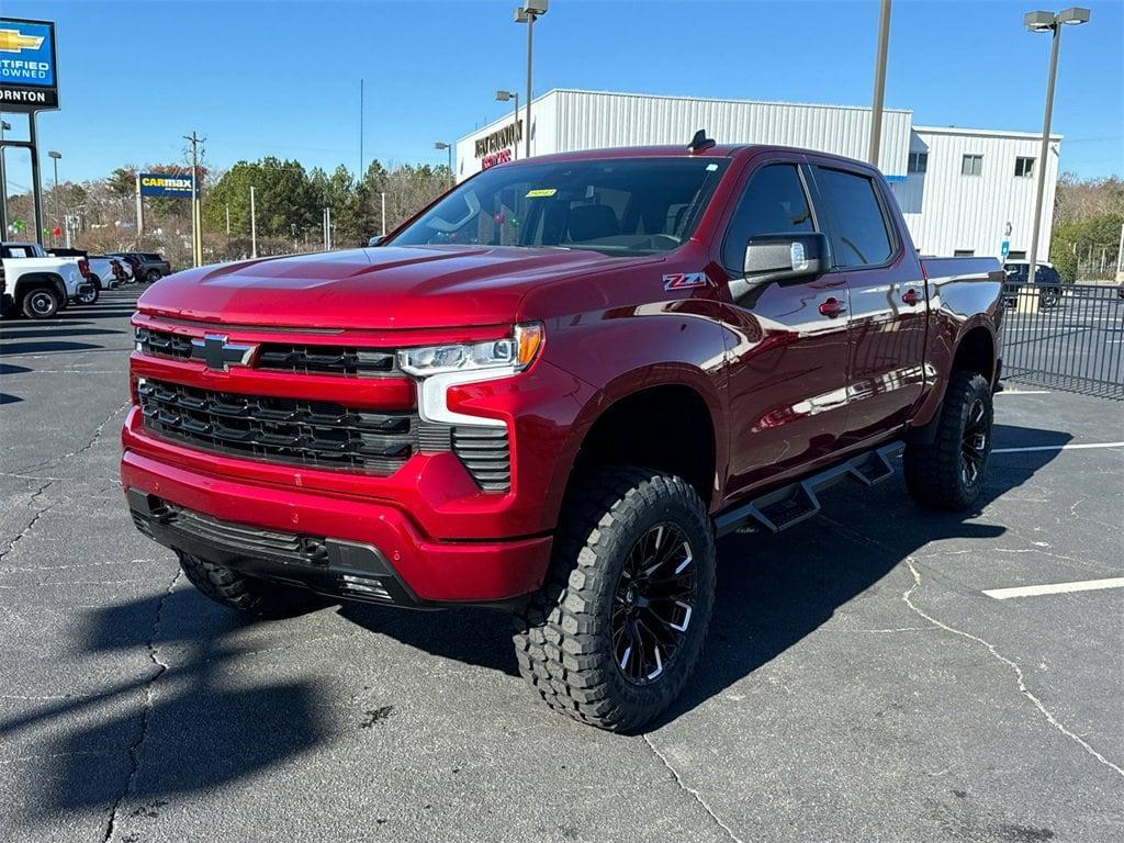
M 855 161 L 697 137 L 504 164 L 379 247 L 146 291 L 121 479 L 219 602 L 506 607 L 543 699 L 635 731 L 699 658 L 716 537 L 903 451 L 918 502 L 972 506 L 1003 280 L 919 257 Z

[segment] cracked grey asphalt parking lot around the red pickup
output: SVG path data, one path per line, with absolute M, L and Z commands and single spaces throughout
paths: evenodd
M 3 839 L 1121 840 L 1124 589 L 985 592 L 1124 577 L 1124 404 L 998 396 L 969 517 L 895 478 L 724 540 L 700 670 L 622 737 L 501 615 L 198 595 L 118 487 L 135 294 L 0 326 Z

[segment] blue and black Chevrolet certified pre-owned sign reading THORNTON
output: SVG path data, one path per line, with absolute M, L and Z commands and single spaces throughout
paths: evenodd
M 0 18 L 0 110 L 58 108 L 55 25 Z

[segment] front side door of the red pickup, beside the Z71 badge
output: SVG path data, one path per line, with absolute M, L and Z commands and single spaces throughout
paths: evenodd
M 725 318 L 731 502 L 763 480 L 830 455 L 845 429 L 846 280 L 807 274 L 742 283 L 750 238 L 821 230 L 803 162 L 755 162 L 717 259 L 732 298 Z

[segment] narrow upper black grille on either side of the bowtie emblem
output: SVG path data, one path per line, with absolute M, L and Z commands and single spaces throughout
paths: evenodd
M 191 357 L 191 337 L 166 330 L 137 328 L 139 351 L 156 357 Z M 341 374 L 378 377 L 401 374 L 393 350 L 361 348 L 346 345 L 299 345 L 261 343 L 253 362 L 256 369 L 296 374 Z

